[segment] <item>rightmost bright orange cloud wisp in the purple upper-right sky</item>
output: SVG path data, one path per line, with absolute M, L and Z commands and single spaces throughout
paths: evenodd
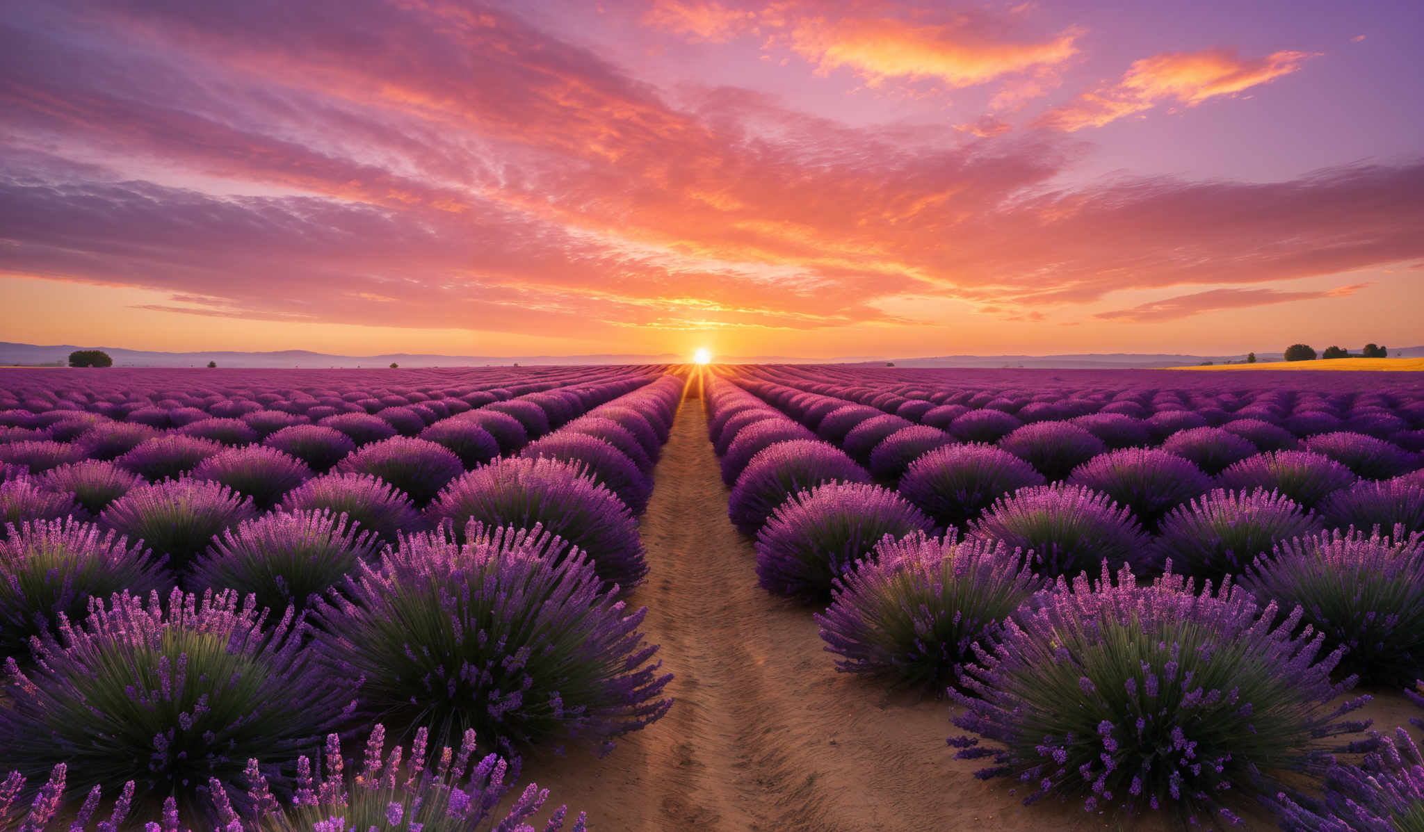
M 1135 61 L 1112 87 L 1082 93 L 1071 103 L 1049 110 L 1040 124 L 1072 132 L 1102 127 L 1134 113 L 1175 100 L 1195 107 L 1216 95 L 1235 95 L 1270 83 L 1300 68 L 1310 53 L 1277 51 L 1246 60 L 1236 50 L 1208 48 L 1196 53 L 1163 53 Z

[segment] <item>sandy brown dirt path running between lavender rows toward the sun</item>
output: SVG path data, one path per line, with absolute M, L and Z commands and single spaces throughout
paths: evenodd
M 978 781 L 978 761 L 953 758 L 946 701 L 834 672 L 812 611 L 756 586 L 689 388 L 642 520 L 652 571 L 629 598 L 648 605 L 644 631 L 662 645 L 676 702 L 607 758 L 535 759 L 525 779 L 609 832 L 1165 828 L 1077 804 L 1025 808 L 1017 784 Z M 1403 697 L 1370 711 L 1381 727 L 1408 715 Z

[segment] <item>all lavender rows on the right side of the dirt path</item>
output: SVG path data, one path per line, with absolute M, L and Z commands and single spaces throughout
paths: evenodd
M 1347 715 L 1368 697 L 1337 704 L 1361 677 L 1424 674 L 1424 460 L 1397 444 L 1424 423 L 1418 392 L 1216 392 L 1213 413 L 1202 392 L 1015 400 L 836 372 L 863 383 L 709 382 L 729 516 L 763 587 L 829 601 L 839 670 L 948 685 L 970 732 L 950 744 L 994 758 L 981 776 L 1198 822 L 1237 821 L 1232 795 L 1255 795 L 1290 829 L 1424 806 L 1408 735 L 1361 734 Z M 1106 410 L 1121 402 L 1168 406 Z M 1390 439 L 1313 433 L 1297 419 L 1313 407 Z M 1000 436 L 965 427 L 990 423 Z M 1312 801 L 1283 772 L 1330 791 Z

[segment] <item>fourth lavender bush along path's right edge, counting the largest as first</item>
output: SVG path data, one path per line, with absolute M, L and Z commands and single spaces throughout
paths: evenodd
M 738 531 L 755 536 L 792 494 L 822 483 L 864 483 L 870 474 L 843 450 L 819 439 L 778 442 L 746 466 L 728 497 L 728 516 Z

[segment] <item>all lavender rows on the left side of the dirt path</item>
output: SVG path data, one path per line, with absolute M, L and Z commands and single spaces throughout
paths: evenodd
M 646 573 L 637 514 L 681 378 L 103 390 L 122 375 L 87 390 L 27 375 L 7 388 L 24 406 L 0 412 L 0 825 L 41 829 L 80 795 L 78 829 L 101 795 L 111 826 L 157 802 L 161 829 L 179 812 L 225 829 L 513 825 L 544 802 L 530 786 L 491 815 L 520 754 L 607 749 L 666 711 L 645 611 L 618 596 Z M 352 407 L 326 413 L 332 399 Z M 372 722 L 349 788 L 342 748 Z M 399 778 L 387 728 L 413 741 Z

